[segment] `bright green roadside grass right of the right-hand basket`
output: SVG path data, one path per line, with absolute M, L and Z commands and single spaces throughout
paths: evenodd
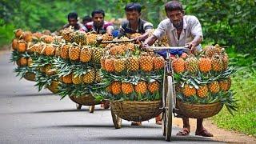
M 250 66 L 244 66 L 244 62 Z M 232 78 L 231 90 L 238 99 L 238 111 L 232 116 L 226 107 L 212 120 L 217 126 L 256 137 L 256 69 L 251 58 L 236 58 L 237 73 Z M 234 61 L 233 61 L 234 62 Z M 241 67 L 243 65 L 244 67 Z

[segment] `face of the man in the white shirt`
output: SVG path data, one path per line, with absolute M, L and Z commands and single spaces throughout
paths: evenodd
M 173 23 L 174 27 L 180 28 L 183 25 L 183 13 L 181 10 L 173 10 L 166 12 L 167 18 Z

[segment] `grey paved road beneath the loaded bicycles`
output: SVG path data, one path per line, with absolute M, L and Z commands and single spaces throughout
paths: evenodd
M 142 126 L 123 121 L 115 130 L 110 110 L 88 106 L 78 111 L 69 98 L 59 100 L 48 90 L 38 93 L 34 82 L 15 77 L 10 53 L 0 54 L 0 143 L 166 143 L 154 119 Z M 177 137 L 173 143 L 216 143 L 209 138 Z M 221 143 L 221 142 L 217 142 Z

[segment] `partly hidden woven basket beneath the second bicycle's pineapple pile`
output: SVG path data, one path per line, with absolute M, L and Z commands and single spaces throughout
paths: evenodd
M 81 97 L 70 96 L 70 99 L 73 102 L 76 102 L 83 106 L 94 106 L 94 105 L 98 105 L 100 103 L 100 102 L 95 101 L 95 98 L 90 94 L 86 94 Z

